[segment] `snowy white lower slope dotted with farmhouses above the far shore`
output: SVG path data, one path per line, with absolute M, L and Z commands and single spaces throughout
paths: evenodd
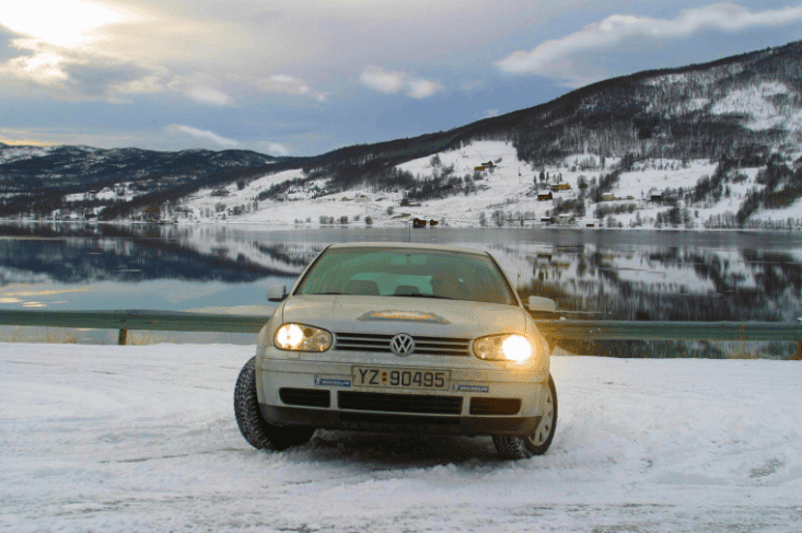
M 409 225 L 418 218 L 446 227 L 714 229 L 740 227 L 742 205 L 767 187 L 760 183 L 766 182 L 766 167 L 742 166 L 719 178 L 721 163 L 706 159 L 643 160 L 625 172 L 621 160 L 605 159 L 602 166 L 601 157 L 585 153 L 538 166 L 518 159 L 515 148 L 504 141 L 476 141 L 435 155 L 395 167 L 410 176 L 406 187 L 363 183 L 336 192 L 324 177 L 307 179 L 303 171 L 292 170 L 254 179 L 242 189 L 236 185 L 201 189 L 164 216 L 177 221 L 302 227 Z M 492 167 L 474 170 L 489 161 Z M 602 182 L 609 175 L 616 179 L 602 193 Z M 543 195 L 550 198 L 538 199 Z M 781 208 L 758 206 L 744 223 L 801 229 L 800 218 L 802 201 L 797 199 Z

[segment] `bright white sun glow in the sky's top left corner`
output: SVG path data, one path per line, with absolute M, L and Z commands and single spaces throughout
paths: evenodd
M 79 0 L 26 0 L 0 11 L 0 24 L 12 32 L 57 46 L 91 40 L 90 30 L 123 20 L 120 13 L 100 3 Z

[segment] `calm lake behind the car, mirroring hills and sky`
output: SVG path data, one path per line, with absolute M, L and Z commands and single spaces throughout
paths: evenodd
M 522 296 L 577 317 L 792 321 L 799 233 L 582 229 L 274 229 L 259 225 L 0 224 L 0 309 L 265 306 L 327 244 L 487 250 Z

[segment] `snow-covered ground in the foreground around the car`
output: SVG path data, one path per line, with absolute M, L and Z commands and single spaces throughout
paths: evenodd
M 559 356 L 542 457 L 487 438 L 249 448 L 253 346 L 0 344 L 0 531 L 799 532 L 802 363 Z

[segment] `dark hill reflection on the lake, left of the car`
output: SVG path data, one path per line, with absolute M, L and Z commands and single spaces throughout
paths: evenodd
M 224 234 L 137 229 L 89 232 L 84 228 L 27 227 L 25 233 L 7 231 L 0 241 L 0 286 L 48 279 L 59 283 L 98 281 L 248 282 L 267 276 L 293 276 L 307 254 L 288 252 L 283 243 L 226 240 Z M 31 239 L 30 234 L 38 239 Z M 107 233 L 113 233 L 112 235 Z M 43 237 L 47 235 L 46 237 Z M 211 239 L 210 239 L 211 237 Z

